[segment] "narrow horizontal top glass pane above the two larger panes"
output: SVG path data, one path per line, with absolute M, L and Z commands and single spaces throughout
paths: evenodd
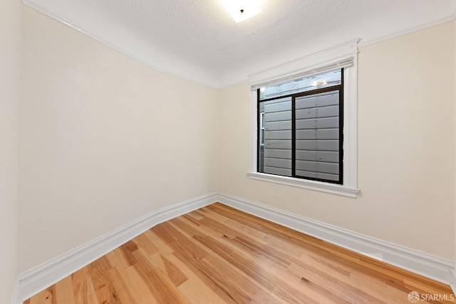
M 291 95 L 312 91 L 316 88 L 326 88 L 341 84 L 341 70 L 330 71 L 314 76 L 308 76 L 286 83 L 279 83 L 274 86 L 266 86 L 259 90 L 259 100 L 276 98 L 280 96 Z

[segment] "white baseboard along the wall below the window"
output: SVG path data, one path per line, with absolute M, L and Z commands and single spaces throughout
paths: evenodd
M 331 226 L 228 194 L 220 193 L 218 201 L 259 218 L 278 223 L 281 226 L 298 230 L 371 258 L 383 260 L 390 265 L 445 283 L 450 285 L 453 293 L 456 294 L 455 263 L 450 260 L 437 258 L 418 250 L 405 248 L 385 240 Z

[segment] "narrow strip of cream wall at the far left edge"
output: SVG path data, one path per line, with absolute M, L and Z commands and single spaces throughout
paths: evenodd
M 18 108 L 22 4 L 0 9 L 0 299 L 9 303 L 17 278 Z

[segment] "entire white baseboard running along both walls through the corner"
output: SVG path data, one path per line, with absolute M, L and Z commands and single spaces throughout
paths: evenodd
M 121 226 L 89 243 L 74 248 L 63 255 L 38 265 L 36 268 L 22 273 L 16 283 L 11 303 L 21 304 L 22 301 L 66 278 L 71 273 L 92 263 L 159 223 L 217 201 L 321 240 L 340 245 L 343 248 L 383 260 L 385 263 L 448 284 L 451 286 L 453 293 L 456 294 L 456 272 L 455 264 L 452 261 L 247 201 L 243 198 L 223 193 L 209 193 L 142 216 L 132 223 Z

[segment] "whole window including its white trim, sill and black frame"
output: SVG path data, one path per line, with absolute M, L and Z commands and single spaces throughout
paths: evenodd
M 356 197 L 357 43 L 249 76 L 250 178 Z

